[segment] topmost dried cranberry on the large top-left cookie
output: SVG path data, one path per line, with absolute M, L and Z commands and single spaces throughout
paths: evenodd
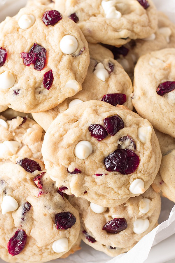
M 56 23 L 58 23 L 58 21 L 60 21 L 62 19 L 62 16 L 60 14 L 60 12 L 56 11 L 56 10 L 50 10 L 47 11 L 43 14 L 43 23 L 45 25 L 52 25 L 54 26 Z

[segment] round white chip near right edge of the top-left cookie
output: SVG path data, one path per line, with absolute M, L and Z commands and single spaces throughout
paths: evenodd
M 72 54 L 77 50 L 77 48 L 78 41 L 73 36 L 64 36 L 60 41 L 60 49 L 65 54 Z

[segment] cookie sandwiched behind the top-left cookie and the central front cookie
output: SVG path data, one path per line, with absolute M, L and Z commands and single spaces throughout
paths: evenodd
M 130 110 L 133 109 L 130 96 L 133 90 L 131 80 L 120 64 L 113 59 L 112 52 L 99 44 L 89 44 L 89 52 L 90 66 L 85 81 L 82 84 L 83 89 L 73 97 L 65 99 L 51 110 L 32 114 L 34 120 L 36 120 L 45 131 L 60 113 L 72 105 L 82 101 L 101 100 L 106 94 L 110 94 L 107 100 L 109 103 L 112 97 L 113 103 L 115 103 L 113 105 L 118 103 L 123 104 Z M 101 69 L 97 70 L 99 66 Z M 105 74 L 107 75 L 105 76 Z M 105 98 L 107 96 L 105 96 Z M 115 97 L 117 99 L 115 99 Z

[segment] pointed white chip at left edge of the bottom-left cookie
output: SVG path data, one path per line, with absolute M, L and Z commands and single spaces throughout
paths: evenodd
M 19 205 L 17 201 L 13 197 L 6 195 L 3 197 L 3 201 L 1 204 L 2 214 L 13 212 L 18 208 L 18 206 Z

